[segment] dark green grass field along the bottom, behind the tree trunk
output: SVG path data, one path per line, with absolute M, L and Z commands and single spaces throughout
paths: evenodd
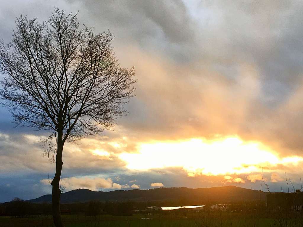
M 265 226 L 301 226 L 280 225 L 278 219 L 259 218 L 243 215 L 100 215 L 96 218 L 85 215 L 62 215 L 66 227 L 265 227 Z M 52 225 L 51 216 L 33 216 L 27 218 L 0 217 L 0 226 L 41 226 Z

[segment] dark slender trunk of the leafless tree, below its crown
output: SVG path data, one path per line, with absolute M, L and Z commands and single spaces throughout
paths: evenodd
M 62 151 L 63 151 L 62 142 L 62 133 L 58 133 L 57 139 L 57 155 L 56 155 L 56 173 L 55 177 L 52 180 L 52 213 L 53 213 L 53 221 L 56 227 L 63 227 L 63 222 L 61 218 L 61 211 L 60 211 L 60 196 L 61 190 L 59 188 L 60 178 L 61 178 L 61 171 L 62 171 Z

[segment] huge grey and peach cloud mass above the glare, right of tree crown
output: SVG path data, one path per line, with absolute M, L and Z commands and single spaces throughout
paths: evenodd
M 44 20 L 53 8 L 48 3 L 43 11 L 32 10 L 42 4 L 33 2 L 20 1 L 18 7 L 7 2 L 1 34 L 9 37 L 19 13 Z M 125 131 L 139 132 L 137 138 L 238 134 L 278 152 L 303 147 L 301 133 L 293 130 L 302 126 L 301 116 L 292 111 L 302 107 L 296 102 L 302 87 L 298 4 L 56 2 L 68 12 L 81 9 L 79 18 L 97 31 L 110 28 L 121 62 L 143 75 L 127 105 L 131 114 L 118 121 Z

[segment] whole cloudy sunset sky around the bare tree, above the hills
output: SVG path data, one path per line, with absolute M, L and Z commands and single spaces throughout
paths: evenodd
M 303 2 L 0 0 L 0 39 L 20 14 L 54 7 L 107 29 L 136 96 L 112 130 L 65 144 L 65 190 L 301 188 Z M 3 75 L 0 75 L 3 77 Z M 51 193 L 47 132 L 15 127 L 0 107 L 0 202 Z M 302 176 L 301 176 L 302 175 Z M 291 183 L 290 183 L 291 182 Z

